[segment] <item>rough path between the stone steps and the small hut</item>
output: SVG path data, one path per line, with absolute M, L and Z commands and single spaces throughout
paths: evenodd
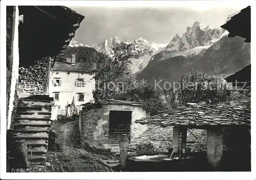
M 47 162 L 51 164 L 48 172 L 108 172 L 110 167 L 101 163 L 102 160 L 116 160 L 112 153 L 89 144 L 79 142 L 78 121 L 63 124 L 57 132 L 56 143 L 59 151 L 49 151 Z

